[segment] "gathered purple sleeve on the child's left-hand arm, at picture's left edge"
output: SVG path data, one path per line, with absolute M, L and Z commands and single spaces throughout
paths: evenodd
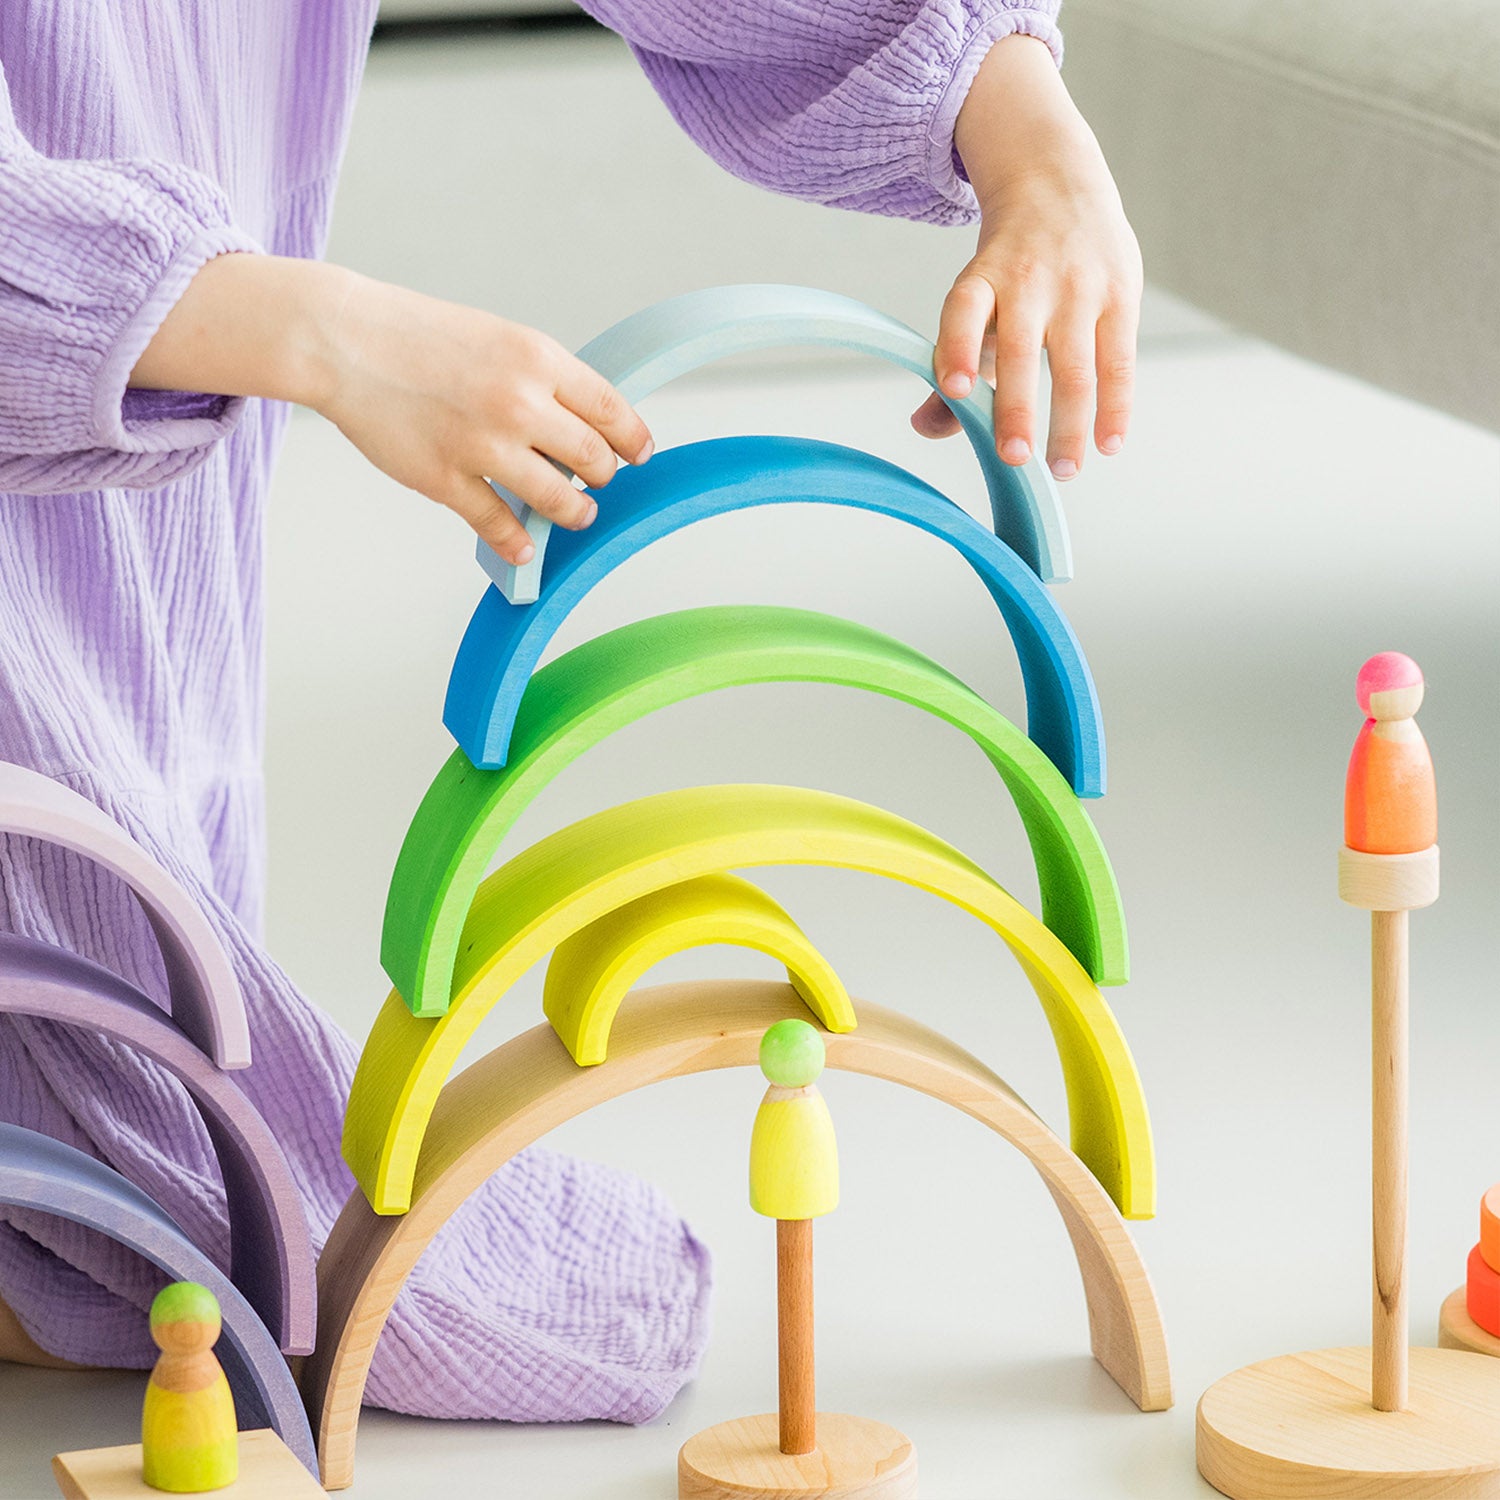
M 204 261 L 255 248 L 190 168 L 38 154 L 0 75 L 0 490 L 147 488 L 202 462 L 243 402 L 126 381 Z

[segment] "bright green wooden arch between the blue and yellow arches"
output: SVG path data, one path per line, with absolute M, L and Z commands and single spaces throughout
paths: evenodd
M 969 735 L 1014 798 L 1042 921 L 1096 984 L 1130 976 L 1108 856 L 1058 768 L 972 688 L 910 646 L 831 615 L 771 606 L 687 609 L 574 646 L 520 699 L 510 758 L 480 771 L 456 750 L 422 800 L 386 902 L 381 962 L 416 1016 L 441 1016 L 478 884 L 531 800 L 578 756 L 645 714 L 750 682 L 832 682 L 934 714 Z

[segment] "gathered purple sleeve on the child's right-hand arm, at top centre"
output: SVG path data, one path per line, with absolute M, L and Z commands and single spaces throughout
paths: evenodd
M 978 218 L 954 122 L 990 46 L 1062 60 L 1060 0 L 580 0 L 678 124 L 776 192 L 928 224 Z

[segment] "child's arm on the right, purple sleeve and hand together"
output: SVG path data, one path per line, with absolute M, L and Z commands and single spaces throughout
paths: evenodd
M 1101 452 L 1119 447 L 1140 256 L 1054 66 L 1059 0 L 580 3 L 630 42 L 676 122 L 736 176 L 866 213 L 978 219 L 980 250 L 944 308 L 944 388 L 968 390 L 980 374 L 998 312 L 1002 458 L 1030 454 L 1044 345 L 1054 472 L 1083 462 L 1095 370 L 1095 438 Z M 936 398 L 914 422 L 933 436 L 957 430 Z

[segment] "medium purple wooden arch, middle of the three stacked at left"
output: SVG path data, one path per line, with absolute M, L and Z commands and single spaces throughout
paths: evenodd
M 306 1354 L 316 1328 L 308 1218 L 276 1137 L 234 1082 L 134 986 L 32 938 L 0 933 L 0 1014 L 110 1036 L 188 1089 L 224 1176 L 234 1284 L 284 1350 Z

